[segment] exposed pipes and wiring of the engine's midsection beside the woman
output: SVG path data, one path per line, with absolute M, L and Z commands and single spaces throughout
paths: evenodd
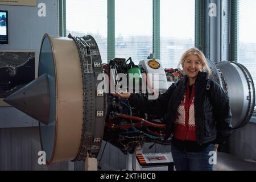
M 118 73 L 123 73 L 127 78 L 130 73 L 137 73 L 141 75 L 139 84 L 146 84 L 147 90 L 146 92 L 140 90 L 139 93 L 136 93 L 141 94 L 142 97 L 158 95 L 152 88 L 147 72 L 140 65 L 135 65 L 131 57 L 127 60 L 115 58 L 110 60 L 109 64 L 103 64 L 103 68 L 109 76 L 109 82 L 113 82 L 115 86 L 122 85 L 117 76 Z M 129 81 L 127 79 L 127 85 L 129 85 Z M 122 89 L 128 88 L 122 85 Z M 105 122 L 106 137 L 113 141 L 112 144 L 121 149 L 122 152 L 125 154 L 133 152 L 138 146 L 142 147 L 144 142 L 168 144 L 164 141 L 166 124 L 163 122 L 163 118 L 132 108 L 127 99 L 118 98 L 112 94 L 107 94 L 107 96 L 110 104 Z M 118 140 L 116 140 L 117 137 Z

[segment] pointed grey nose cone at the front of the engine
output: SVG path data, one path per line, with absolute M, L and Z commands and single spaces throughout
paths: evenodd
M 30 115 L 39 122 L 48 125 L 50 94 L 47 74 L 31 81 L 23 88 L 6 97 L 3 101 Z

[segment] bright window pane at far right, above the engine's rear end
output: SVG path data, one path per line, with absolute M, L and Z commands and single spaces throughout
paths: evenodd
M 256 1 L 240 0 L 238 28 L 238 63 L 243 64 L 256 84 Z

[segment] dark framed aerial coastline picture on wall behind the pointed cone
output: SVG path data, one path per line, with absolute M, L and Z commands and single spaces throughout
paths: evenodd
M 36 51 L 0 50 L 0 106 L 3 98 L 35 79 Z

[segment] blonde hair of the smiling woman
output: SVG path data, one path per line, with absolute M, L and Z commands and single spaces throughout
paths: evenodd
M 210 76 L 212 74 L 212 71 L 210 70 L 209 66 L 207 65 L 207 60 L 204 56 L 204 53 L 195 47 L 192 47 L 183 53 L 183 55 L 181 56 L 180 62 L 178 64 L 178 68 L 180 68 L 180 65 L 183 67 L 185 60 L 187 59 L 187 57 L 189 55 L 198 56 L 202 63 L 202 66 L 203 66 L 203 72 L 207 72 L 208 76 Z

